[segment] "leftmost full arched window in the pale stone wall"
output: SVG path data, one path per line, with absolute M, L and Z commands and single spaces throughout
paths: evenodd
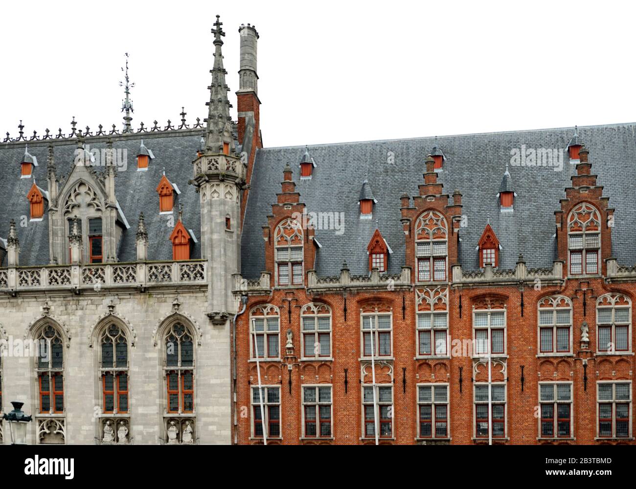
M 64 339 L 57 327 L 45 324 L 35 336 L 39 347 L 36 376 L 40 414 L 64 413 Z

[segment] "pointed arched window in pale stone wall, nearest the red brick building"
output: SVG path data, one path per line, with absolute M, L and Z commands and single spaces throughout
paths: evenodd
M 170 326 L 164 336 L 166 412 L 170 414 L 195 411 L 195 351 L 194 335 L 181 322 Z

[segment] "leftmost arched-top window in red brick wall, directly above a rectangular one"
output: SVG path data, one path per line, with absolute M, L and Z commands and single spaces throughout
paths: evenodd
M 249 325 L 251 358 L 280 358 L 279 308 L 271 304 L 256 306 L 249 314 Z

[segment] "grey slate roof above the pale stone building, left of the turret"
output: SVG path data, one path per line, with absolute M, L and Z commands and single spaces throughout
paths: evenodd
M 116 172 L 115 193 L 121 210 L 130 229 L 123 230 L 118 249 L 119 261 L 135 261 L 137 251 L 135 233 L 139 212 L 144 211 L 146 230 L 148 231 L 149 260 L 172 259 L 172 244 L 169 241 L 174 227 L 169 227 L 170 215 L 159 214 L 159 198 L 156 186 L 163 169 L 176 183 L 181 194 L 174 198 L 174 223 L 178 219 L 179 203 L 183 203 L 183 223 L 186 228 L 195 232 L 198 243 L 195 243 L 191 258 L 200 258 L 200 203 L 195 188 L 188 184 L 192 178 L 192 161 L 200 149 L 202 130 L 183 130 L 163 134 L 135 134 L 114 136 L 113 148 L 127 150 L 127 169 Z M 152 148 L 154 160 L 147 171 L 138 172 L 135 156 L 139 152 L 141 139 Z M 54 144 L 55 167 L 58 178 L 67 176 L 74 161 L 76 140 L 52 141 Z M 106 138 L 87 138 L 86 145 L 90 149 L 106 148 Z M 49 263 L 48 244 L 48 202 L 45 200 L 45 218 L 39 222 L 29 222 L 29 201 L 27 193 L 33 184 L 32 178 L 20 178 L 20 162 L 24 156 L 25 144 L 0 145 L 0 238 L 5 238 L 9 231 L 10 219 L 15 219 L 18 239 L 20 240 L 20 265 L 46 265 Z M 46 160 L 48 141 L 29 142 L 29 153 L 38 158 L 41 164 L 33 168 L 32 176 L 43 189 L 48 188 L 46 181 Z M 44 162 L 44 163 L 42 163 Z M 97 174 L 102 174 L 104 167 L 93 167 Z M 61 190 L 61 186 L 60 186 Z M 24 216 L 24 217 L 22 217 Z M 25 223 L 26 226 L 21 226 Z M 6 266 L 6 258 L 2 264 Z

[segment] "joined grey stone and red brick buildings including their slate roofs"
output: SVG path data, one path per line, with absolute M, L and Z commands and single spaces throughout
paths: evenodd
M 212 32 L 203 122 L 4 139 L 31 443 L 634 443 L 635 125 L 263 148 Z

